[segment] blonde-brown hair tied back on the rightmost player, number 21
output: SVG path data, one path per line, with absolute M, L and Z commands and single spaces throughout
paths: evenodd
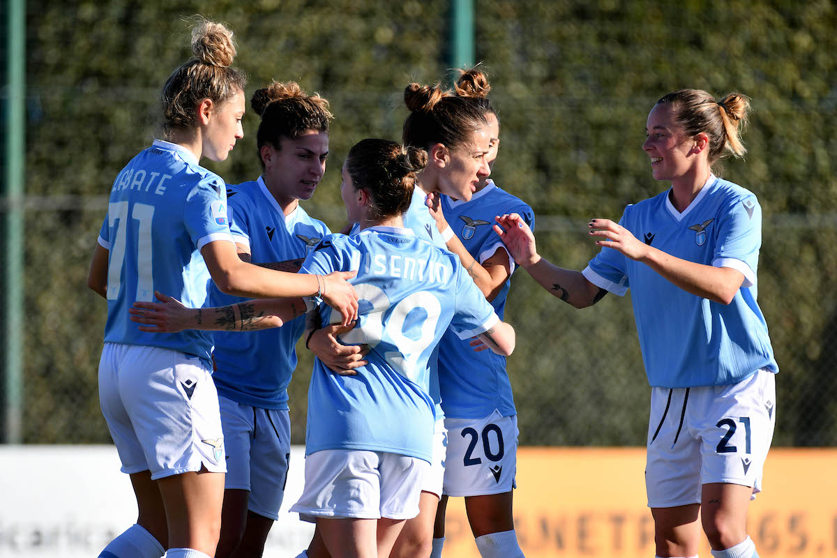
M 740 93 L 725 95 L 721 102 L 703 90 L 677 90 L 657 101 L 670 105 L 686 134 L 709 136 L 709 164 L 730 154 L 742 157 L 747 149 L 741 133 L 747 125 L 750 100 Z

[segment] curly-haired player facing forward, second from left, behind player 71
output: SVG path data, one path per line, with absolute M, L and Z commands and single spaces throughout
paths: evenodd
M 230 230 L 244 261 L 295 272 L 331 234 L 299 204 L 311 198 L 326 171 L 331 112 L 327 100 L 306 95 L 293 82 L 257 90 L 250 105 L 261 116 L 262 175 L 227 189 Z M 242 300 L 211 288 L 208 305 Z M 290 456 L 287 388 L 304 329 L 300 317 L 251 335 L 213 335 L 213 380 L 228 455 L 218 558 L 262 555 L 279 519 Z

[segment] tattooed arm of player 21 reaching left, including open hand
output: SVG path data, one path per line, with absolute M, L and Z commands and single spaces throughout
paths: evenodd
M 496 218 L 495 232 L 511 257 L 553 296 L 576 308 L 596 304 L 608 291 L 590 283 L 580 271 L 551 264 L 537 253 L 535 236 L 517 213 Z M 499 226 L 498 226 L 499 225 Z

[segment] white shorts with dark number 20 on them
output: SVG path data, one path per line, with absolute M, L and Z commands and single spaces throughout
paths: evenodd
M 444 467 L 444 494 L 484 496 L 516 488 L 517 416 L 445 418 L 448 458 Z

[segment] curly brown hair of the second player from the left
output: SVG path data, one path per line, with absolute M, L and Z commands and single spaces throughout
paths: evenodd
M 294 81 L 270 85 L 257 90 L 250 100 L 250 107 L 261 116 L 256 146 L 259 161 L 265 144 L 281 149 L 282 138 L 295 140 L 304 132 L 316 130 L 328 132 L 328 124 L 334 118 L 328 110 L 328 101 L 316 93 L 306 95 Z

